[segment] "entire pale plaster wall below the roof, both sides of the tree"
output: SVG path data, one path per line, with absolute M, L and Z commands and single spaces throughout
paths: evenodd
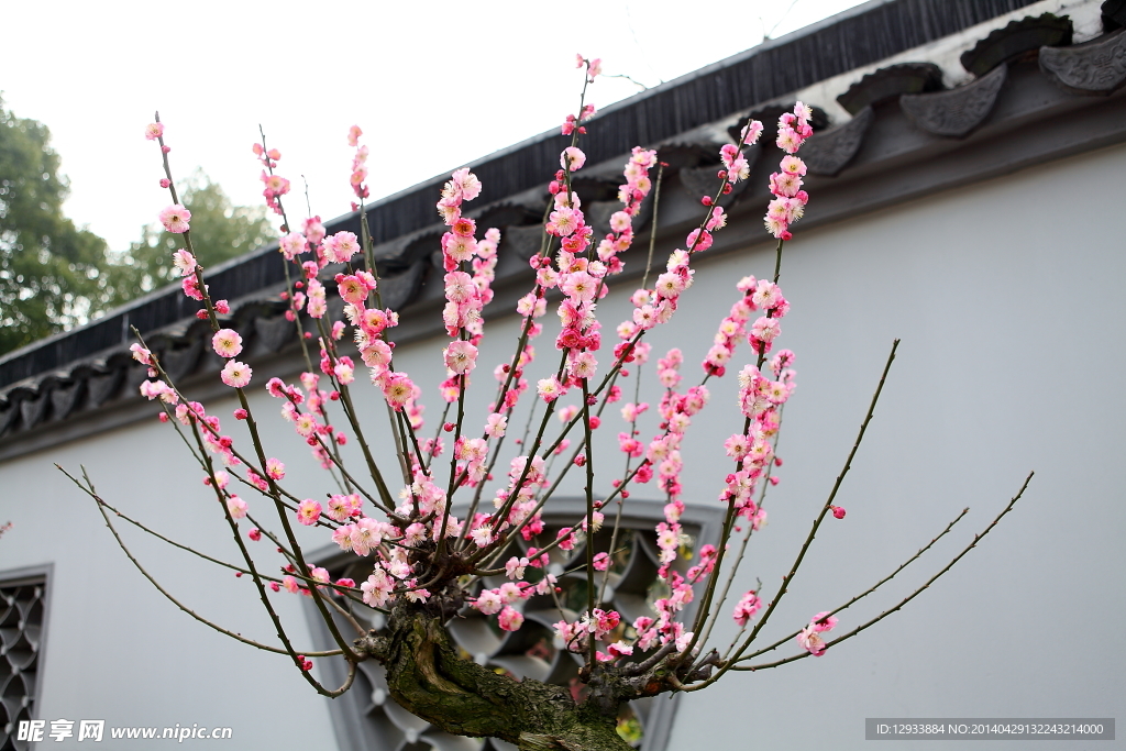
M 740 592 L 756 576 L 767 592 L 780 581 L 851 446 L 892 339 L 903 343 L 838 500 L 848 517 L 828 520 L 765 638 L 798 628 L 867 588 L 971 506 L 950 538 L 901 574 L 902 581 L 842 614 L 840 629 L 893 605 L 984 527 L 1029 470 L 1037 476 L 995 533 L 905 610 L 821 659 L 730 674 L 686 697 L 671 749 L 705 741 L 724 749 L 857 748 L 869 716 L 1124 714 L 1114 681 L 1126 669 L 1116 629 L 1126 618 L 1118 585 L 1126 569 L 1118 545 L 1126 511 L 1114 474 L 1126 418 L 1119 375 L 1126 320 L 1118 290 L 1126 265 L 1123 175 L 1126 146 L 1116 146 L 831 227 L 797 226 L 783 265 L 793 309 L 779 347 L 797 354 L 799 386 L 786 408 L 786 464 L 781 484 L 768 497 L 770 525 L 751 546 Z M 682 310 L 667 331 L 653 332 L 654 359 L 681 346 L 685 385 L 697 382 L 712 332 L 735 298 L 735 280 L 767 276 L 772 267 L 766 242 L 744 253 L 701 257 Z M 624 295 L 602 303 L 608 338 L 628 307 Z M 555 322 L 551 315 L 544 321 L 548 332 L 537 349 L 546 367 L 556 361 Z M 477 422 L 495 387 L 492 365 L 516 337 L 513 320 L 494 325 L 470 405 Z M 435 395 L 444 377 L 440 343 L 396 352 L 396 366 L 425 390 L 427 435 L 441 411 Z M 739 361 L 745 357 L 744 349 Z M 742 424 L 732 409 L 738 369 L 713 382 L 713 405 L 692 426 L 697 442 L 686 450 L 685 474 L 690 502 L 714 503 L 729 471 L 720 446 Z M 651 376 L 652 366 L 646 370 Z M 266 377 L 257 374 L 256 385 Z M 659 392 L 647 387 L 643 399 L 655 404 Z M 268 449 L 289 466 L 294 492 L 323 497 L 331 489 L 307 449 L 274 417 L 278 403 L 262 394 L 254 404 Z M 230 414 L 233 402 L 212 409 Z M 386 418 L 374 394 L 360 411 L 377 456 L 390 458 L 390 444 L 382 440 Z M 620 455 L 613 437 L 622 423 L 616 410 L 606 417 L 596 463 L 616 470 Z M 518 433 L 522 419 L 512 428 Z M 655 419 L 645 423 L 646 435 L 654 429 Z M 348 450 L 358 458 L 355 445 Z M 208 553 L 235 555 L 215 501 L 198 484 L 198 470 L 169 427 L 155 420 L 0 467 L 0 509 L 16 525 L 0 542 L 0 571 L 55 565 L 38 716 L 230 725 L 239 748 L 332 748 L 327 703 L 286 659 L 233 643 L 161 598 L 53 462 L 86 464 L 99 491 L 123 510 Z M 384 461 L 384 467 L 394 485 L 394 465 Z M 561 492 L 578 492 L 579 480 L 566 481 Z M 252 513 L 265 511 L 245 497 Z M 126 531 L 153 573 L 202 615 L 270 637 L 249 581 L 215 574 Z M 314 548 L 324 542 L 306 539 Z M 307 644 L 303 604 L 284 593 L 274 599 L 294 638 Z M 721 647 L 732 633 L 723 620 Z M 787 645 L 779 655 L 793 651 Z

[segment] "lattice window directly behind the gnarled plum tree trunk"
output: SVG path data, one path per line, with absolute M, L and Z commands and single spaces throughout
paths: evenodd
M 545 516 L 546 529 L 539 538 L 543 547 L 547 540 L 555 539 L 555 531 L 580 519 L 586 506 L 578 500 L 560 503 L 553 502 L 553 512 Z M 664 596 L 660 591 L 663 585 L 656 579 L 658 548 L 655 544 L 655 524 L 663 518 L 662 504 L 655 502 L 635 502 L 626 504 L 622 530 L 615 545 L 610 576 L 601 597 L 600 607 L 615 609 L 622 614 L 625 636 L 632 636 L 627 625 L 642 615 L 652 615 L 650 604 L 653 599 Z M 613 527 L 613 510 L 607 510 L 606 526 L 595 535 L 595 551 L 608 551 Z M 722 519 L 718 509 L 689 508 L 681 524 L 696 540 L 714 539 Z M 533 545 L 536 540 L 533 540 Z M 528 544 L 522 539 L 513 543 L 521 551 Z M 516 552 L 515 549 L 512 551 Z M 686 548 L 686 555 L 688 549 Z M 502 560 L 510 553 L 506 552 Z M 458 618 L 449 624 L 449 632 L 457 645 L 464 650 L 466 659 L 480 664 L 490 665 L 498 672 L 508 672 L 516 677 L 529 677 L 537 680 L 569 686 L 572 691 L 581 690 L 578 681 L 581 665 L 579 655 L 558 649 L 552 624 L 561 617 L 573 619 L 575 610 L 586 609 L 587 575 L 584 572 L 565 573 L 574 569 L 579 562 L 586 562 L 586 547 L 575 546 L 568 553 L 557 552 L 552 557 L 551 573 L 560 578 L 563 590 L 558 598 L 563 606 L 563 616 L 549 596 L 533 597 L 513 607 L 522 609 L 524 626 L 512 633 L 503 632 L 497 626 L 495 618 L 486 618 L 480 613 L 465 608 Z M 333 579 L 350 576 L 357 582 L 364 581 L 370 574 L 370 563 L 347 553 L 328 551 L 319 560 L 319 564 L 329 569 Z M 687 569 L 690 562 L 687 557 L 678 561 L 678 566 Z M 529 571 L 531 571 L 529 569 Z M 484 582 L 485 587 L 498 587 L 504 580 Z M 529 581 L 534 581 L 529 576 Z M 596 579 L 601 581 L 601 573 Z M 331 649 L 328 629 L 320 622 L 315 610 L 310 605 L 314 634 L 324 649 Z M 358 607 L 354 614 L 361 625 L 372 628 L 383 627 L 383 616 L 375 610 Z M 348 634 L 343 623 L 341 633 Z M 324 661 L 328 668 L 329 682 L 343 679 L 343 667 L 339 661 Z M 330 667 L 331 664 L 331 667 Z M 677 697 L 656 697 L 633 701 L 619 717 L 619 727 L 634 740 L 634 745 L 643 751 L 664 751 L 676 713 Z M 497 739 L 467 739 L 450 735 L 432 727 L 423 719 L 410 714 L 387 695 L 383 668 L 375 662 L 360 663 L 356 682 L 343 697 L 336 699 L 330 708 L 338 727 L 341 749 L 375 749 L 377 751 L 515 751 L 516 746 Z

